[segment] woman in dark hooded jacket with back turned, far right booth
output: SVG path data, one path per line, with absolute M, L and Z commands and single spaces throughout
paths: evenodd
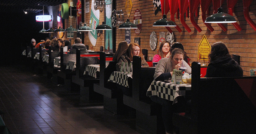
M 210 64 L 206 70 L 206 77 L 243 77 L 243 69 L 231 58 L 223 42 L 212 44 L 208 57 Z

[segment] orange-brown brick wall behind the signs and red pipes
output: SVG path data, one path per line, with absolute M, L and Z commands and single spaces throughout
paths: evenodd
M 86 0 L 89 1 L 89 0 Z M 124 12 L 124 20 L 127 19 L 127 13 L 125 10 L 125 0 L 116 0 L 116 10 L 123 10 Z M 70 0 L 68 0 L 70 5 Z M 134 30 L 131 30 L 131 42 L 134 42 L 134 38 L 140 37 L 141 38 L 141 47 L 142 49 L 148 49 L 148 57 L 149 59 L 153 57 L 155 54 L 157 54 L 157 49 L 159 49 L 159 33 L 160 32 L 166 32 L 166 28 L 162 27 L 153 27 L 153 23 L 156 20 L 159 20 L 162 18 L 161 12 L 159 12 L 156 16 L 154 15 L 155 8 L 152 4 L 152 0 L 132 0 L 132 11 L 131 15 L 129 17 L 130 21 L 133 21 L 134 17 L 134 11 L 136 9 L 140 9 L 142 13 L 142 30 L 139 35 L 136 35 Z M 74 2 L 75 5 L 75 2 Z M 91 7 L 91 1 L 90 1 L 90 7 Z M 226 1 L 222 5 L 224 8 L 224 12 L 228 13 L 227 9 L 227 3 Z M 83 8 L 83 7 L 82 7 Z M 61 9 L 60 6 L 52 7 L 52 12 L 56 13 L 57 10 Z M 240 59 L 240 65 L 242 69 L 244 70 L 244 75 L 249 75 L 249 69 L 250 68 L 256 68 L 256 46 L 254 42 L 256 42 L 256 31 L 247 23 L 247 21 L 244 18 L 243 15 L 243 0 L 238 0 L 238 3 L 236 3 L 236 6 L 234 8 L 234 16 L 236 20 L 238 20 L 238 24 L 241 26 L 242 30 L 238 31 L 231 23 L 224 24 L 224 26 L 228 29 L 227 31 L 223 31 L 220 26 L 218 26 L 215 23 L 210 24 L 214 31 L 211 32 L 202 22 L 202 16 L 201 16 L 201 8 L 198 8 L 199 10 L 199 16 L 194 16 L 195 21 L 202 29 L 201 32 L 198 32 L 196 28 L 191 24 L 190 18 L 184 18 L 189 28 L 191 28 L 191 32 L 189 33 L 184 26 L 182 26 L 181 21 L 176 18 L 175 21 L 177 25 L 182 29 L 182 32 L 177 31 L 176 28 L 171 28 L 175 39 L 177 42 L 181 42 L 184 46 L 185 51 L 187 52 L 188 56 L 191 59 L 191 63 L 194 61 L 198 61 L 201 63 L 206 63 L 208 61 L 206 60 L 199 60 L 197 59 L 197 47 L 199 45 L 199 42 L 201 41 L 202 37 L 206 35 L 208 41 L 210 44 L 213 44 L 214 42 L 222 41 L 224 42 L 228 48 L 231 54 L 237 54 L 241 56 Z M 91 9 L 90 9 L 91 11 Z M 212 5 L 209 8 L 209 14 L 212 15 L 213 13 L 213 7 Z M 256 22 L 256 1 L 253 1 L 250 5 L 250 17 L 253 19 L 254 22 Z M 186 17 L 186 15 L 184 15 Z M 209 16 L 209 15 L 206 15 Z M 53 17 L 57 17 L 53 15 Z M 167 13 L 167 18 L 170 19 L 170 12 Z M 70 19 L 70 18 L 69 18 Z M 70 20 L 65 20 L 65 28 L 68 28 L 70 25 Z M 104 20 L 104 11 L 100 13 L 100 24 Z M 90 13 L 85 14 L 85 21 L 90 21 Z M 57 20 L 53 20 L 53 26 L 57 23 Z M 75 26 L 75 18 L 72 19 L 72 26 Z M 49 25 L 50 26 L 50 25 Z M 152 51 L 149 46 L 149 39 L 150 34 L 152 31 L 155 31 L 157 34 L 157 49 L 155 51 Z M 118 29 L 116 28 L 116 47 L 118 46 L 118 43 L 120 41 L 124 41 L 125 37 L 125 30 L 124 29 Z M 65 38 L 65 37 L 64 37 Z M 73 39 L 72 39 L 73 41 Z M 104 33 L 100 36 L 97 40 L 97 44 L 95 47 L 91 48 L 92 45 L 90 44 L 88 34 L 85 33 L 85 44 L 88 44 L 90 47 L 90 50 L 99 51 L 100 46 L 104 46 Z

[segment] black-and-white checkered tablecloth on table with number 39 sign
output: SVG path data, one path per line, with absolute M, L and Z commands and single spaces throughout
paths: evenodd
M 177 102 L 177 96 L 190 96 L 191 84 L 173 84 L 162 81 L 153 81 L 147 90 L 147 96 L 157 95 L 160 98 Z

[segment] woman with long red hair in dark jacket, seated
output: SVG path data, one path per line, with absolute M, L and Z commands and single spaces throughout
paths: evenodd
M 119 57 L 117 64 L 115 65 L 116 70 L 120 71 L 122 62 L 127 62 L 128 65 L 132 61 L 133 56 L 140 56 L 141 57 L 141 66 L 142 67 L 149 67 L 144 56 L 141 52 L 141 47 L 136 43 L 131 43 L 129 47 L 123 52 L 122 56 Z

